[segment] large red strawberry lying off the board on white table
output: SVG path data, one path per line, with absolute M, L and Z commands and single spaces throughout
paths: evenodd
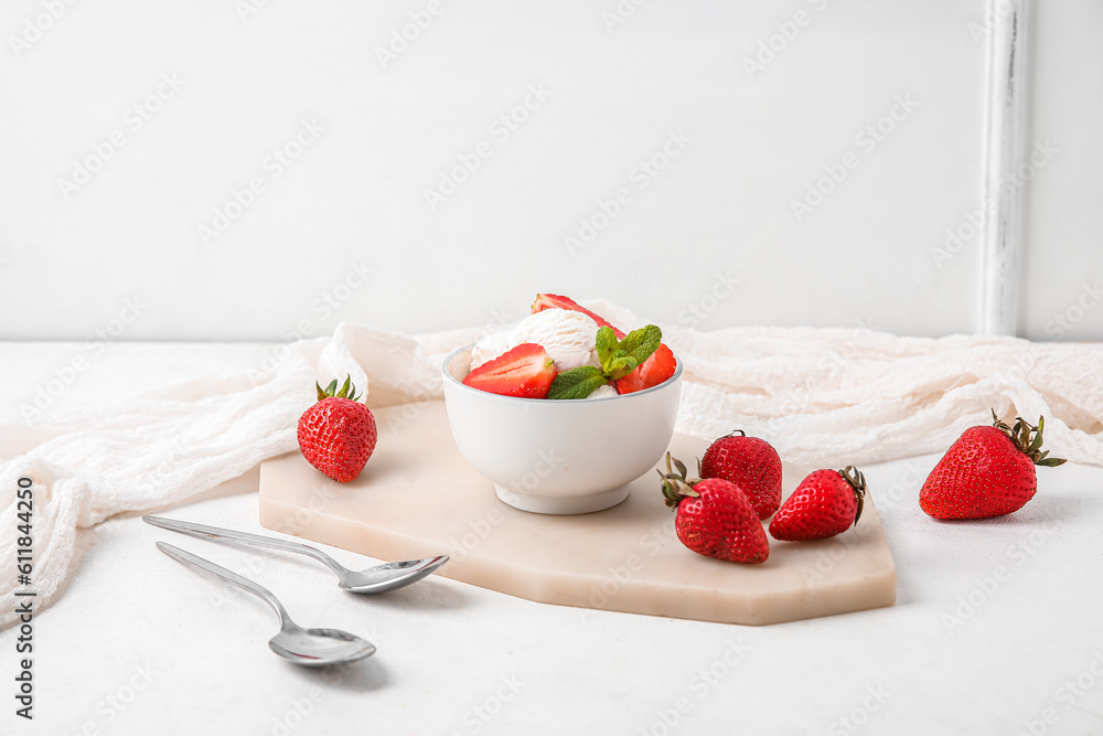
M 988 519 L 1018 511 L 1038 490 L 1035 466 L 1064 460 L 1041 451 L 1045 417 L 1038 426 L 1016 417 L 1009 427 L 970 427 L 934 466 L 919 492 L 919 505 L 935 519 Z

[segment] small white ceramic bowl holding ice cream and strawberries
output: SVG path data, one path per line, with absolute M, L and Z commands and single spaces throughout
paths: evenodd
M 463 458 L 524 511 L 579 514 L 617 505 L 670 447 L 682 361 L 664 383 L 623 396 L 499 396 L 463 385 L 471 348 L 445 359 L 445 407 Z M 657 491 L 656 491 L 657 492 Z

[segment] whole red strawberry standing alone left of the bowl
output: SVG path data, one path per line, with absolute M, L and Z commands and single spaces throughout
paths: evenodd
M 351 378 L 318 387 L 318 403 L 299 417 L 299 449 L 307 462 L 338 481 L 360 476 L 375 451 L 378 435 L 372 410 L 357 401 Z

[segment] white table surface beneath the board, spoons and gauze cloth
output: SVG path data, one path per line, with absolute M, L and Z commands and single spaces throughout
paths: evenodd
M 248 367 L 270 348 L 113 344 L 49 410 Z M 82 350 L 0 344 L 3 416 Z M 1103 733 L 1103 469 L 1042 469 L 1022 511 L 946 524 L 917 501 L 936 460 L 864 468 L 897 564 L 896 606 L 761 628 L 582 611 L 436 576 L 357 597 L 306 558 L 116 518 L 79 532 L 64 595 L 35 618 L 32 723 L 14 715 L 15 632 L 0 632 L 0 733 Z M 162 511 L 263 531 L 257 479 Z M 378 652 L 332 671 L 280 661 L 264 604 L 159 554 L 157 540 L 245 573 L 300 623 L 360 633 Z

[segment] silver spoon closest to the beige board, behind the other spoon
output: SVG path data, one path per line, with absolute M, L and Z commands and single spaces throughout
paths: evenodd
M 229 529 L 218 529 L 217 526 L 207 526 L 206 524 L 164 519 L 163 516 L 147 515 L 142 516 L 142 521 L 153 526 L 160 526 L 200 538 L 225 540 L 231 544 L 239 543 L 256 547 L 283 550 L 285 552 L 295 552 L 300 555 L 313 557 L 336 573 L 340 580 L 338 585 L 351 593 L 386 593 L 387 590 L 394 590 L 395 588 L 420 580 L 448 562 L 448 555 L 437 555 L 436 557 L 426 557 L 425 559 L 385 563 L 362 570 L 353 570 L 333 557 L 330 557 L 321 550 L 315 550 L 298 542 L 288 542 L 287 540 L 277 540 L 272 536 L 260 536 L 259 534 L 249 534 L 248 532 L 236 532 Z

